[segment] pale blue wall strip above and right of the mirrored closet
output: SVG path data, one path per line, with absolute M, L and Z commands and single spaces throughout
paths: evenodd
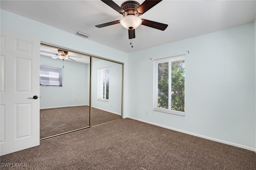
M 42 42 L 74 49 L 94 56 L 99 56 L 124 63 L 124 116 L 127 116 L 127 57 L 126 53 L 105 45 L 92 42 L 57 28 L 18 16 L 0 9 L 1 29 L 22 33 L 39 38 Z M 93 36 L 93 35 L 92 35 Z

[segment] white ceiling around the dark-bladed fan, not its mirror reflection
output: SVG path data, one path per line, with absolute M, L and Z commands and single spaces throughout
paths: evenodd
M 125 0 L 114 2 L 121 6 Z M 142 4 L 144 0 L 137 2 Z M 163 0 L 140 18 L 168 24 L 168 28 L 160 31 L 139 26 L 132 48 L 128 30 L 121 24 L 95 27 L 122 18 L 100 0 L 1 0 L 0 8 L 72 34 L 77 31 L 90 34 L 89 40 L 125 53 L 251 23 L 256 18 L 255 0 Z

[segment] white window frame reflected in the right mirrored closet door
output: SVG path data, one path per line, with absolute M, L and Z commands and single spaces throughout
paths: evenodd
M 108 102 L 109 100 L 109 87 L 108 87 L 108 99 L 106 99 L 106 89 L 107 87 L 104 89 L 103 87 L 103 71 L 105 70 L 105 84 L 107 84 L 107 74 L 106 74 L 106 71 L 108 70 L 108 75 L 109 75 L 109 67 L 104 67 L 104 68 L 99 68 L 98 69 L 98 99 L 99 101 L 105 101 L 105 102 Z M 109 76 L 108 76 L 108 79 L 109 79 Z M 109 82 L 108 82 L 108 86 L 109 86 Z M 104 94 L 102 94 L 102 90 L 104 90 Z M 105 97 L 105 99 L 104 99 Z

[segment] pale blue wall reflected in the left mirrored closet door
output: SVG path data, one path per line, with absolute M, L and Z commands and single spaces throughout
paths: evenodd
M 62 68 L 62 60 L 41 55 L 41 65 Z M 64 61 L 62 87 L 40 85 L 40 108 L 89 105 L 89 64 Z

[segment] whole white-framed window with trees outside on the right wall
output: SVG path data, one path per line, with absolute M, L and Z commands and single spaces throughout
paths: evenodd
M 185 115 L 185 55 L 154 60 L 153 110 Z

